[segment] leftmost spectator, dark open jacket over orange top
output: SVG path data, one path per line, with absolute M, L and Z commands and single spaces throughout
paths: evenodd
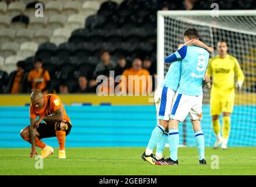
M 17 70 L 11 72 L 9 77 L 8 93 L 27 93 L 28 92 L 28 73 L 24 70 L 24 61 L 16 63 Z

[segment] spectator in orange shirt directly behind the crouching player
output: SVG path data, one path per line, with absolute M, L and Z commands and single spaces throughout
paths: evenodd
M 38 89 L 42 93 L 48 93 L 50 88 L 50 75 L 49 72 L 42 68 L 43 62 L 40 58 L 35 59 L 34 70 L 29 72 L 28 82 L 30 91 Z

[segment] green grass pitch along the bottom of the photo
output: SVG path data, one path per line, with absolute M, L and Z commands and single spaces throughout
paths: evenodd
M 256 147 L 206 148 L 207 165 L 199 165 L 196 147 L 180 147 L 178 166 L 150 165 L 141 159 L 144 150 L 66 148 L 67 159 L 59 160 L 55 148 L 43 169 L 36 169 L 29 148 L 1 148 L 0 175 L 256 175 Z M 219 169 L 211 169 L 211 155 L 218 155 Z

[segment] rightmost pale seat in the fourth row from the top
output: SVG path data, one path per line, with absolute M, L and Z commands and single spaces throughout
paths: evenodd
M 38 44 L 34 41 L 25 41 L 21 44 L 19 47 L 19 50 L 17 51 L 17 55 L 21 57 L 29 57 L 35 55 L 38 48 Z

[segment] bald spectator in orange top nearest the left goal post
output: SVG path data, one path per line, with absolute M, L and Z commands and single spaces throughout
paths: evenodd
M 125 70 L 122 75 L 127 79 L 127 82 L 121 82 L 123 84 L 122 88 L 127 88 L 127 93 L 145 94 L 148 93 L 148 90 L 150 92 L 152 91 L 152 78 L 149 76 L 149 71 L 142 68 L 140 58 L 135 58 L 132 62 L 132 67 Z M 138 75 L 139 80 L 136 79 L 135 75 Z M 139 87 L 136 86 L 136 82 L 138 81 Z M 133 88 L 132 91 L 129 88 Z

